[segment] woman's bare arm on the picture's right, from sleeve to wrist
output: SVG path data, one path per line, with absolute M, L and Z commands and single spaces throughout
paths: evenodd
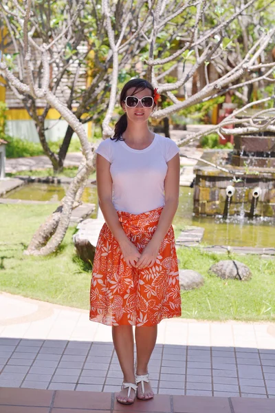
M 164 180 L 165 205 L 162 213 L 159 215 L 157 229 L 150 241 L 158 246 L 162 244 L 179 205 L 179 153 L 167 162 L 167 166 L 168 170 Z

